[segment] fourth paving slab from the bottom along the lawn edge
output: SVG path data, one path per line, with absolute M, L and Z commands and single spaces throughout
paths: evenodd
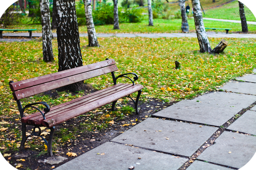
M 250 82 L 228 82 L 226 85 L 219 89 L 236 93 L 256 95 L 256 83 Z

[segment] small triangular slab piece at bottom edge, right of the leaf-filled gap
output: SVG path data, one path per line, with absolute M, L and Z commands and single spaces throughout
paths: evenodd
M 230 170 L 230 168 L 195 160 L 186 170 Z

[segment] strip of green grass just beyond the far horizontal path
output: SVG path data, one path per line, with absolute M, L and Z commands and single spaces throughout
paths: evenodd
M 119 30 L 113 30 L 113 25 L 95 26 L 96 33 L 178 33 L 181 32 L 181 19 L 154 19 L 154 26 L 148 26 L 148 20 L 145 19 L 141 23 L 120 23 Z M 189 31 L 195 32 L 195 22 L 193 18 L 188 20 Z M 232 28 L 230 33 L 241 31 L 240 23 L 228 23 L 221 21 L 204 20 L 204 26 L 208 28 Z M 39 24 L 20 24 L 8 26 L 6 29 L 37 29 L 33 32 L 41 32 L 42 26 Z M 248 24 L 249 33 L 256 33 L 256 25 Z M 212 31 L 212 30 L 207 30 Z M 8 31 L 5 31 L 6 33 Z M 21 32 L 21 31 L 19 31 Z M 25 31 L 26 32 L 26 31 Z M 53 30 L 56 32 L 56 30 Z M 218 30 L 218 32 L 225 32 Z M 86 26 L 79 26 L 79 33 L 87 33 Z

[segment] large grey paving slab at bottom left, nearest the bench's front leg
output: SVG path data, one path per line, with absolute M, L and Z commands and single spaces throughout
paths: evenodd
M 74 167 L 76 170 L 128 170 L 130 166 L 135 170 L 177 170 L 186 161 L 164 153 L 106 142 L 55 170 L 72 170 Z

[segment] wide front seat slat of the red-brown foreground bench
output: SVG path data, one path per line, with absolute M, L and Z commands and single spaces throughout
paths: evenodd
M 122 97 L 128 96 L 129 94 L 132 94 L 136 91 L 140 91 L 141 89 L 143 89 L 143 86 L 140 84 L 137 85 L 132 85 L 129 88 L 126 88 L 122 91 L 119 91 L 118 94 L 111 94 L 111 95 L 106 95 L 103 98 L 92 102 L 90 105 L 81 105 L 79 107 L 77 107 L 75 110 L 72 111 L 66 111 L 64 113 L 61 113 L 59 115 L 56 115 L 55 117 L 52 117 L 50 119 L 46 119 L 43 121 L 42 125 L 46 126 L 46 127 L 53 127 L 55 125 L 58 125 L 62 122 L 65 122 L 69 119 L 72 119 L 76 116 L 79 116 L 83 113 L 86 113 L 88 111 L 91 111 L 93 109 L 99 108 L 103 105 L 106 105 L 108 103 L 111 103 L 113 101 L 116 101 Z

